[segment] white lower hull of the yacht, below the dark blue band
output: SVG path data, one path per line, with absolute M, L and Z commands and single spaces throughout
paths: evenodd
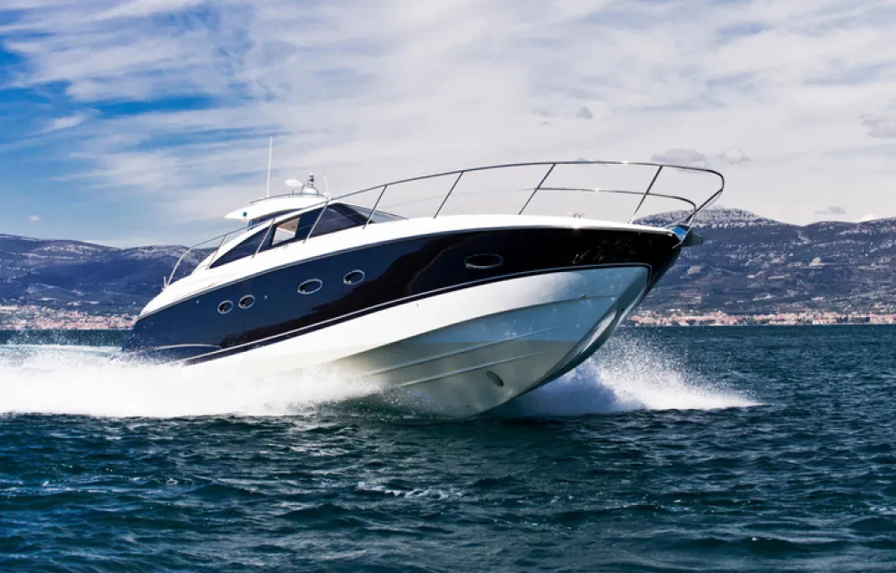
M 432 295 L 191 368 L 335 368 L 415 412 L 477 415 L 581 362 L 637 304 L 645 267 L 547 272 Z M 326 378 L 322 379 L 322 383 Z

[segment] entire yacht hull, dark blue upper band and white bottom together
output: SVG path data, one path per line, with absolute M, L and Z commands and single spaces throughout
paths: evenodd
M 282 264 L 260 256 L 252 273 L 151 303 L 123 356 L 210 377 L 327 383 L 320 371 L 335 370 L 388 404 L 476 415 L 593 353 L 679 242 L 659 229 L 461 228 L 321 257 L 283 251 Z

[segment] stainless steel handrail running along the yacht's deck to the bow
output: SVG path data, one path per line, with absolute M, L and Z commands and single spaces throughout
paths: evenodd
M 650 179 L 650 184 L 648 184 L 647 188 L 644 189 L 643 191 L 634 191 L 634 190 L 625 190 L 625 189 L 601 189 L 599 187 L 545 186 L 545 184 L 547 183 L 547 179 L 552 174 L 555 173 L 556 167 L 558 167 L 558 166 L 589 166 L 589 165 L 656 167 L 656 172 L 653 174 L 652 178 Z M 622 193 L 622 194 L 628 194 L 628 195 L 640 195 L 641 196 L 641 201 L 638 201 L 638 205 L 633 210 L 632 216 L 628 219 L 629 223 L 633 223 L 633 221 L 637 217 L 638 213 L 641 211 L 641 208 L 642 208 L 644 202 L 647 201 L 647 198 L 650 196 L 650 197 L 660 197 L 660 198 L 664 198 L 664 199 L 671 199 L 671 200 L 676 200 L 676 201 L 683 201 L 683 202 L 687 203 L 690 206 L 690 212 L 687 215 L 685 215 L 685 217 L 676 219 L 676 221 L 674 221 L 672 223 L 672 225 L 669 225 L 668 227 L 671 228 L 671 227 L 674 227 L 675 225 L 685 225 L 686 227 L 691 227 L 691 226 L 693 226 L 694 220 L 697 217 L 697 215 L 702 210 L 709 207 L 714 201 L 716 201 L 719 198 L 719 195 L 721 195 L 721 193 L 725 190 L 725 176 L 714 169 L 710 169 L 707 167 L 692 167 L 692 166 L 674 165 L 674 164 L 668 164 L 668 163 L 655 163 L 655 162 L 647 162 L 647 161 L 622 161 L 622 160 L 530 161 L 530 162 L 523 162 L 523 163 L 504 163 L 504 164 L 499 164 L 499 165 L 469 167 L 466 169 L 453 169 L 451 171 L 444 171 L 441 173 L 435 173 L 435 174 L 429 174 L 429 175 L 418 175 L 416 177 L 408 177 L 405 179 L 399 179 L 399 180 L 392 181 L 392 182 L 389 182 L 386 184 L 378 184 L 378 185 L 374 185 L 372 187 L 366 187 L 365 189 L 360 189 L 358 191 L 344 193 L 344 194 L 334 197 L 332 199 L 328 196 L 325 201 L 316 203 L 314 205 L 310 205 L 301 210 L 302 212 L 305 212 L 307 210 L 314 210 L 314 209 L 320 208 L 321 205 L 323 205 L 323 209 L 321 209 L 321 212 L 318 213 L 317 218 L 314 219 L 314 224 L 312 225 L 311 229 L 308 231 L 308 235 L 306 235 L 306 237 L 302 241 L 302 243 L 306 243 L 307 240 L 314 235 L 314 230 L 316 229 L 317 224 L 320 222 L 321 218 L 323 217 L 323 212 L 327 209 L 327 207 L 330 206 L 332 201 L 342 201 L 349 197 L 353 197 L 353 196 L 356 196 L 356 195 L 359 195 L 362 193 L 379 190 L 379 193 L 377 194 L 377 197 L 376 197 L 376 201 L 374 202 L 374 206 L 370 210 L 370 214 L 367 216 L 366 221 L 364 223 L 363 228 L 366 228 L 373 220 L 377 208 L 380 206 L 381 201 L 383 201 L 383 196 L 392 187 L 396 187 L 401 184 L 409 184 L 409 183 L 418 182 L 418 181 L 426 181 L 429 179 L 437 179 L 440 177 L 456 175 L 456 177 L 454 177 L 453 183 L 451 184 L 451 187 L 449 188 L 448 192 L 445 193 L 441 203 L 439 204 L 438 209 L 435 210 L 435 215 L 433 215 L 433 218 L 437 218 L 442 213 L 442 210 L 444 210 L 445 204 L 452 197 L 452 193 L 455 191 L 458 184 L 460 184 L 461 178 L 464 175 L 471 174 L 471 173 L 477 173 L 477 172 L 481 172 L 481 171 L 495 171 L 498 169 L 510 169 L 510 168 L 515 168 L 515 167 L 547 167 L 547 172 L 545 173 L 545 175 L 543 175 L 541 177 L 541 180 L 538 182 L 538 184 L 535 187 L 531 188 L 531 193 L 530 193 L 529 197 L 527 198 L 526 202 L 523 203 L 521 210 L 518 211 L 518 213 L 517 213 L 518 215 L 522 215 L 522 213 L 529 207 L 531 201 L 535 198 L 535 196 L 538 194 L 538 192 L 578 191 L 578 192 Z M 716 189 L 714 192 L 711 192 L 709 198 L 706 199 L 705 201 L 703 201 L 702 203 L 700 203 L 699 205 L 697 203 L 695 203 L 694 201 L 691 201 L 690 199 L 687 199 L 687 198 L 679 196 L 679 195 L 670 195 L 670 194 L 666 194 L 666 193 L 653 192 L 653 187 L 659 180 L 659 176 L 661 174 L 663 174 L 665 171 L 670 170 L 670 169 L 676 169 L 676 170 L 685 171 L 685 172 L 694 172 L 694 173 L 704 173 L 704 174 L 709 174 L 709 175 L 715 175 L 719 178 L 719 188 Z M 526 188 L 526 190 L 528 190 L 528 189 L 529 188 Z M 516 190 L 516 191 L 521 191 L 521 190 Z M 288 196 L 288 195 L 292 195 L 292 194 L 294 194 L 294 193 L 284 193 L 283 195 L 274 195 L 273 197 L 282 197 L 282 196 Z M 273 197 L 271 197 L 271 198 L 273 198 Z M 265 199 L 267 199 L 267 198 L 265 198 Z M 257 201 L 263 201 L 263 200 L 257 200 Z M 253 201 L 253 202 L 256 202 L 256 201 Z M 409 202 L 413 202 L 413 201 L 409 201 Z M 292 211 L 291 213 L 295 213 L 295 211 Z M 262 250 L 263 244 L 265 243 L 268 235 L 271 233 L 271 229 L 273 228 L 274 224 L 278 221 L 285 220 L 285 218 L 289 218 L 290 216 L 291 216 L 291 214 L 285 213 L 283 217 L 271 218 L 270 222 L 268 223 L 268 229 L 265 232 L 262 243 L 258 245 L 258 248 L 255 250 L 254 254 L 252 255 L 253 257 L 255 254 L 258 254 L 258 252 L 260 252 Z M 185 252 L 183 254 L 181 254 L 180 258 L 177 259 L 174 269 L 171 269 L 171 274 L 168 276 L 168 278 L 164 279 L 163 287 L 168 287 L 174 281 L 174 276 L 175 276 L 175 273 L 177 272 L 177 269 L 179 268 L 181 262 L 183 262 L 185 260 L 185 257 L 189 252 L 193 252 L 195 249 L 201 247 L 204 244 L 208 244 L 211 241 L 220 239 L 220 243 L 218 244 L 217 248 L 215 249 L 214 252 L 212 252 L 211 257 L 208 258 L 209 266 L 211 266 L 211 262 L 213 262 L 215 260 L 216 255 L 218 254 L 218 252 L 220 252 L 220 249 L 224 246 L 229 235 L 233 235 L 234 233 L 237 233 L 237 232 L 246 232 L 247 230 L 249 230 L 253 227 L 257 227 L 257 225 L 250 226 L 250 227 L 241 227 L 239 229 L 228 231 L 227 233 L 224 233 L 223 235 L 214 236 L 211 239 L 207 239 L 205 241 L 202 241 L 202 243 L 194 244 L 192 247 L 187 248 L 185 250 Z

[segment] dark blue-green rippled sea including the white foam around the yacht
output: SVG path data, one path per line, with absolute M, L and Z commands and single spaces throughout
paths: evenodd
M 2 571 L 896 571 L 896 328 L 622 329 L 486 418 L 0 333 Z

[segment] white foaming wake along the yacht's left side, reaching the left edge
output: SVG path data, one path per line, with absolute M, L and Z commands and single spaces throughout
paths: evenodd
M 116 352 L 91 346 L 0 346 L 0 414 L 296 415 L 378 390 L 333 372 L 254 379 L 110 362 Z

